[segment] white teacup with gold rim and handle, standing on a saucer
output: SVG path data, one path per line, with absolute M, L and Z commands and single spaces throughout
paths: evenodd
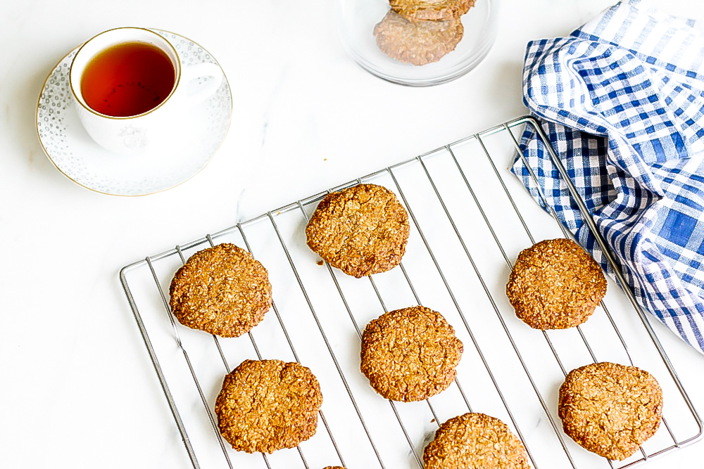
M 138 115 L 115 117 L 99 113 L 85 101 L 81 79 L 86 66 L 98 53 L 118 44 L 143 42 L 156 46 L 171 60 L 175 80 L 171 93 L 156 107 Z M 205 101 L 220 87 L 222 70 L 214 63 L 181 65 L 176 49 L 163 36 L 139 27 L 120 27 L 89 39 L 76 53 L 69 73 L 78 117 L 96 143 L 115 153 L 142 153 L 153 150 L 165 139 L 177 136 L 176 121 L 189 108 Z M 197 86 L 197 78 L 210 77 Z

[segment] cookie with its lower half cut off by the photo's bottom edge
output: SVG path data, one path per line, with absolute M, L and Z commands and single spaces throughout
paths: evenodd
M 530 469 L 520 439 L 484 413 L 465 413 L 440 425 L 423 461 L 425 469 Z

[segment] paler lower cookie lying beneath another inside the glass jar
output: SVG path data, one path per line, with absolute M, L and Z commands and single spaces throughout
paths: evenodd
M 451 16 L 438 21 L 409 21 L 393 10 L 374 27 L 377 46 L 401 62 L 425 65 L 437 62 L 462 40 L 465 28 Z

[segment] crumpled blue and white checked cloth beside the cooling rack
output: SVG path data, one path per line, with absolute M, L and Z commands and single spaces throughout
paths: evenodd
M 704 32 L 640 1 L 621 2 L 571 37 L 532 41 L 524 102 L 646 310 L 704 352 Z M 522 152 L 546 203 L 612 270 L 543 143 Z M 529 171 L 512 171 L 547 209 Z

